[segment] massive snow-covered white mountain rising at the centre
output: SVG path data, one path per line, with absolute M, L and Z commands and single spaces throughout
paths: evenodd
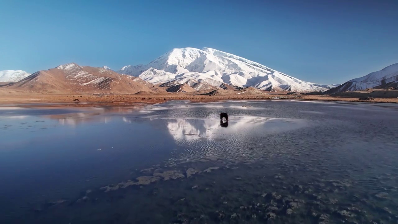
M 261 90 L 306 92 L 332 88 L 304 82 L 254 61 L 207 47 L 201 50 L 190 47 L 173 49 L 148 65 L 127 65 L 118 73 L 140 77 L 154 84 L 191 78 L 205 80 L 209 84 L 215 81 L 217 85 L 253 86 Z

